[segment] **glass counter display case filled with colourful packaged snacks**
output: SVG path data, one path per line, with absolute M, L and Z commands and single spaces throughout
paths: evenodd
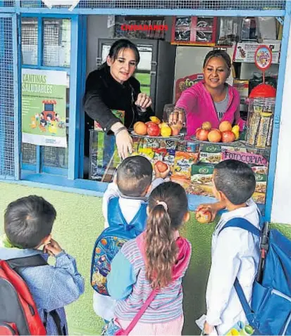
M 207 143 L 192 138 L 161 138 L 132 136 L 135 152 L 144 155 L 152 164 L 166 162 L 171 167 L 171 181 L 180 183 L 188 194 L 211 196 L 212 174 L 215 164 L 223 160 L 240 160 L 252 167 L 256 176 L 253 199 L 264 205 L 268 176 L 269 148 L 247 146 L 245 141 L 235 143 Z M 113 135 L 91 131 L 89 179 L 113 181 L 120 163 Z

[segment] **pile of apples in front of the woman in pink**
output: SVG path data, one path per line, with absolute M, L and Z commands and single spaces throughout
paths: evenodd
M 224 121 L 218 129 L 213 129 L 210 122 L 204 122 L 202 127 L 196 130 L 196 138 L 200 141 L 230 143 L 240 137 L 240 127 L 234 127 L 230 122 Z

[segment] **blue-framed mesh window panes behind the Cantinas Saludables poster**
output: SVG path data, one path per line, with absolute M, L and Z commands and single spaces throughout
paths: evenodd
M 70 77 L 70 67 L 75 67 L 74 57 L 70 57 L 73 30 L 78 30 L 78 17 L 68 15 L 22 15 L 20 20 L 22 39 L 22 68 L 66 71 L 68 75 L 67 134 L 70 135 L 70 86 L 75 79 Z M 65 35 L 66 39 L 62 41 Z M 59 58 L 60 50 L 66 51 Z M 72 53 L 73 54 L 73 53 Z M 72 63 L 71 63 L 72 61 Z M 73 95 L 72 95 L 73 97 Z M 74 114 L 73 114 L 74 115 Z M 74 118 L 73 118 L 74 119 Z M 73 124 L 73 128 L 74 124 Z M 72 136 L 73 138 L 73 136 Z M 68 148 L 41 147 L 23 143 L 22 170 L 36 173 L 69 176 Z

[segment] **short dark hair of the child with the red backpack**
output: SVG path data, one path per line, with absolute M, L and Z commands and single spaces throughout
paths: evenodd
M 35 248 L 51 233 L 56 209 L 44 198 L 31 195 L 11 202 L 4 214 L 4 231 L 12 245 Z

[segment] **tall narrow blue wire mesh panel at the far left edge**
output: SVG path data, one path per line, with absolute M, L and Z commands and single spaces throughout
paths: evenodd
M 0 17 L 0 176 L 14 177 L 12 18 Z

